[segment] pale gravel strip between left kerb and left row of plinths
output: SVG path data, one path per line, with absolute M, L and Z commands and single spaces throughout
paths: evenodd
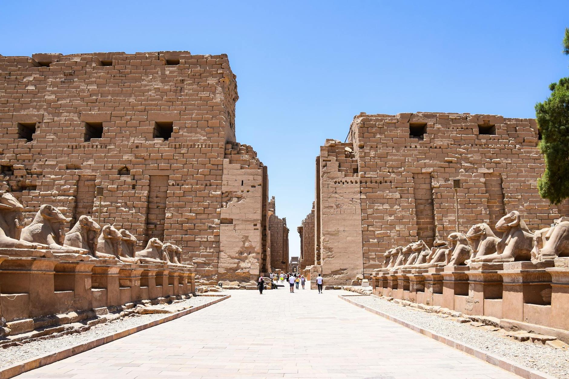
M 172 304 L 172 307 L 188 305 L 197 307 L 201 304 L 212 302 L 215 299 L 217 298 L 213 296 L 196 296 L 186 299 L 183 302 Z M 98 324 L 83 333 L 65 335 L 47 340 L 32 341 L 21 346 L 14 346 L 6 349 L 0 348 L 0 368 L 10 366 L 18 362 L 27 361 L 38 356 L 55 353 L 71 346 L 93 341 L 101 337 L 134 328 L 154 320 L 166 318 L 168 316 L 170 316 L 170 314 L 150 314 L 126 317 L 104 324 Z

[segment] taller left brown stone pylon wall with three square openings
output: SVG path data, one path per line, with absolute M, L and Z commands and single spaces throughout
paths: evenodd
M 202 279 L 256 279 L 268 180 L 236 144 L 237 99 L 226 55 L 0 56 L 2 189 L 28 216 L 52 204 L 72 222 L 100 213 L 139 247 L 172 241 Z

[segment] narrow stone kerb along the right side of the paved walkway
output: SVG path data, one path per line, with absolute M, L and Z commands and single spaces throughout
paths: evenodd
M 409 328 L 409 329 L 411 329 L 417 333 L 420 333 L 426 337 L 434 339 L 435 341 L 439 341 L 440 343 L 443 343 L 447 346 L 455 348 L 455 349 L 457 349 L 463 353 L 475 356 L 478 359 L 481 359 L 485 362 L 488 362 L 491 365 L 498 366 L 501 369 L 504 369 L 508 372 L 514 373 L 518 376 L 521 376 L 522 378 L 525 378 L 525 379 L 556 379 L 554 376 L 551 376 L 549 374 L 546 374 L 546 373 L 543 373 L 543 372 L 540 372 L 537 370 L 532 370 L 529 367 L 520 365 L 517 362 L 510 361 L 508 359 L 505 359 L 504 357 L 485 353 L 485 352 L 483 352 L 483 351 L 481 351 L 481 350 L 479 350 L 473 346 L 463 344 L 459 341 L 450 339 L 449 337 L 439 335 L 438 333 L 429 331 L 427 329 L 423 329 L 423 328 L 418 327 L 414 324 L 410 324 L 410 323 L 404 322 L 402 320 L 399 320 L 397 318 L 394 318 L 393 316 L 385 314 L 384 312 L 381 312 L 381 311 L 375 310 L 373 308 L 364 306 L 363 304 L 358 304 L 356 302 L 353 302 L 352 300 L 348 299 L 348 297 L 350 297 L 349 295 L 348 296 L 338 295 L 338 297 L 340 299 L 350 303 L 350 304 L 353 304 L 354 306 L 360 307 L 360 308 L 362 308 L 368 312 L 372 312 L 373 314 L 381 316 L 387 320 L 393 321 L 394 323 L 397 323 L 397 324 L 402 325 L 406 328 Z

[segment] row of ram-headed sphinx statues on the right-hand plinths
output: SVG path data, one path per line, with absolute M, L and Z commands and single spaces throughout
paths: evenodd
M 466 234 L 451 233 L 448 242 L 436 240 L 432 248 L 420 240 L 387 250 L 383 268 L 428 269 L 465 266 L 475 262 L 539 262 L 569 257 L 569 218 L 561 217 L 550 228 L 530 232 L 519 212 L 513 211 L 496 223 L 497 237 L 488 224 L 476 224 Z

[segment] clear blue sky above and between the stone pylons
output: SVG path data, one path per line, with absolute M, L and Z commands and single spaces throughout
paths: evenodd
M 569 76 L 569 1 L 18 1 L 1 3 L 0 53 L 227 53 L 237 141 L 269 167 L 296 226 L 314 200 L 314 159 L 360 112 L 533 117 Z

